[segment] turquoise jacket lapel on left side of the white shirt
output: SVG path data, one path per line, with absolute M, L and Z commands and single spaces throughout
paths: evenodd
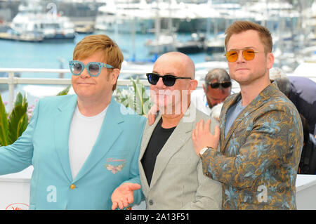
M 72 172 L 70 169 L 68 140 L 72 114 L 74 113 L 76 105 L 77 95 L 73 95 L 70 100 L 65 100 L 65 102 L 58 106 L 58 112 L 54 117 L 55 122 L 53 138 L 55 142 L 55 149 L 57 150 L 62 169 L 70 181 L 72 181 Z

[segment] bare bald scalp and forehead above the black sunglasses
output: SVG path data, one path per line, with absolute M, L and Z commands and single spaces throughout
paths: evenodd
M 161 65 L 168 65 L 170 68 L 177 68 L 179 74 L 174 75 L 178 77 L 190 77 L 195 79 L 195 63 L 184 53 L 176 51 L 164 53 L 156 60 L 156 62 L 154 62 L 154 70 Z

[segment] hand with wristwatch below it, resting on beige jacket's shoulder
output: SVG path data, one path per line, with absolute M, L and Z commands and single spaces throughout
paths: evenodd
M 197 122 L 195 130 L 192 131 L 192 142 L 195 147 L 195 153 L 199 155 L 199 151 L 204 147 L 212 147 L 216 149 L 218 147 L 220 129 L 219 126 L 215 127 L 214 134 L 209 131 L 209 125 L 211 119 L 207 120 L 204 125 L 203 119 Z

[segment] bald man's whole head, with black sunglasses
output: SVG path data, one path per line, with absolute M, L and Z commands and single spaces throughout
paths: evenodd
M 171 85 L 164 83 L 167 79 L 159 78 L 156 84 L 150 85 L 150 97 L 159 111 L 169 115 L 184 114 L 190 105 L 190 95 L 197 88 L 197 80 L 194 79 L 195 64 L 191 58 L 180 52 L 165 53 L 154 63 L 152 73 L 160 77 L 178 77 L 171 78 Z

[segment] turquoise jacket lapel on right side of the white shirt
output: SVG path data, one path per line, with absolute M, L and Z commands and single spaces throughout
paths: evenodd
M 124 122 L 123 115 L 119 113 L 119 107 L 120 105 L 112 98 L 96 143 L 93 145 L 91 153 L 88 155 L 76 178 L 74 178 L 74 181 L 79 180 L 79 178 L 88 173 L 111 149 L 117 138 L 119 138 L 123 130 L 118 124 Z

